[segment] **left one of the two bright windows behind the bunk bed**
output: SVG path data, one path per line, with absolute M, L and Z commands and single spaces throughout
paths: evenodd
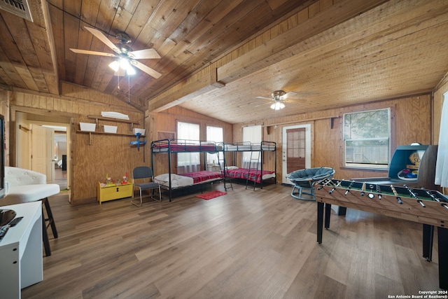
M 189 142 L 200 140 L 200 126 L 195 123 L 177 122 L 177 139 L 186 139 Z M 197 172 L 200 170 L 200 153 L 178 153 L 177 173 Z

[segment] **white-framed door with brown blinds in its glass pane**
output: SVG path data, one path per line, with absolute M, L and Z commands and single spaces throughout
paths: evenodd
M 282 183 L 290 172 L 311 167 L 311 124 L 283 127 Z

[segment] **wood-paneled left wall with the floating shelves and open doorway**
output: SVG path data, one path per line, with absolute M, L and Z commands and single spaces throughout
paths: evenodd
M 116 111 L 127 114 L 130 120 L 144 127 L 144 112 L 100 92 L 88 90 L 78 85 L 62 83 L 62 95 L 43 95 L 22 91 L 8 92 L 11 111 L 23 111 L 42 116 L 59 116 L 71 119 L 71 202 L 94 201 L 97 197 L 97 182 L 104 181 L 106 174 L 113 179 L 120 179 L 127 172 L 132 176 L 132 169 L 148 165 L 145 157 L 146 148 L 139 150 L 130 145 L 133 136 L 119 134 L 88 134 L 78 132 L 79 123 L 94 123 L 87 116 L 101 116 L 102 111 Z M 132 134 L 132 127 L 127 123 L 100 121 L 97 132 L 102 132 L 102 125 L 118 126 L 117 133 Z M 14 120 L 10 127 L 15 127 Z M 136 126 L 137 127 L 137 126 Z M 10 136 L 15 133 L 9 132 Z M 13 140 L 11 138 L 10 140 Z M 16 146 L 11 142 L 10 153 L 15 153 Z M 13 160 L 9 165 L 13 165 Z

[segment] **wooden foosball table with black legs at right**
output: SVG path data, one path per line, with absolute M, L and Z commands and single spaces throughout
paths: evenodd
M 327 179 L 316 183 L 317 242 L 323 225 L 330 228 L 331 205 L 368 211 L 423 224 L 423 258 L 432 259 L 433 232 L 437 227 L 439 286 L 448 289 L 448 197 L 434 190 L 362 181 Z M 325 215 L 324 215 L 325 211 Z M 325 224 L 323 223 L 325 220 Z

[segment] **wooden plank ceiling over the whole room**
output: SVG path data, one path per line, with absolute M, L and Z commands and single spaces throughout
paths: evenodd
M 66 81 L 142 111 L 179 104 L 248 123 L 430 92 L 448 71 L 444 0 L 28 2 L 34 22 L 0 11 L 1 85 L 58 95 Z M 73 53 L 113 53 L 85 27 L 113 43 L 125 32 L 132 50 L 154 48 L 160 59 L 139 61 L 162 76 L 114 76 L 113 57 Z M 214 78 L 209 87 L 200 71 Z M 306 102 L 273 111 L 256 97 L 274 90 Z

